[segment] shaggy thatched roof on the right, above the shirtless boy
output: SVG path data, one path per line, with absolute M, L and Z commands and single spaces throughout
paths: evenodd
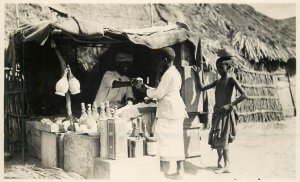
M 227 46 L 246 60 L 287 61 L 295 57 L 295 28 L 273 20 L 246 5 L 189 4 L 156 5 L 169 21 L 178 18 L 204 39 L 204 57 L 215 58 L 215 49 Z M 170 11 L 172 9 L 172 11 Z M 290 20 L 294 21 L 295 19 Z M 231 51 L 233 51 L 231 50 Z

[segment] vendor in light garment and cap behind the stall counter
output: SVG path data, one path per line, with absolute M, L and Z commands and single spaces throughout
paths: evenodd
M 98 89 L 95 102 L 109 101 L 110 106 L 122 107 L 126 104 L 132 104 L 134 95 L 132 92 L 131 80 L 128 76 L 128 70 L 131 66 L 133 57 L 127 53 L 118 52 L 116 54 L 116 70 L 106 71 Z

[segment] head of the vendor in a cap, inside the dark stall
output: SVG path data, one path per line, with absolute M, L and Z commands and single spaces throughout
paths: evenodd
M 116 54 L 116 70 L 121 74 L 121 75 L 127 75 L 129 68 L 131 67 L 133 57 L 124 52 L 118 52 Z

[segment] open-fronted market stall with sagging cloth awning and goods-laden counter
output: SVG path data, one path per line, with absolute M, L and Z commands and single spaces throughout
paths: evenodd
M 21 27 L 10 40 L 6 66 L 11 82 L 15 81 L 12 75 L 22 75 L 20 93 L 28 104 L 26 113 L 19 113 L 14 121 L 23 125 L 22 148 L 27 121 L 28 151 L 40 156 L 44 166 L 75 171 L 86 178 L 105 178 L 112 173 L 100 174 L 103 170 L 97 169 L 99 165 L 111 166 L 111 170 L 121 165 L 112 160 L 140 158 L 138 161 L 157 165 L 155 151 L 151 151 L 155 141 L 150 139 L 155 101 L 145 101 L 145 95 L 135 90 L 132 106 L 114 108 L 103 103 L 99 107 L 93 101 L 116 51 L 133 55 L 131 78 L 141 77 L 155 87 L 161 76 L 157 49 L 172 46 L 177 55 L 175 65 L 184 79 L 182 97 L 191 116 L 184 123 L 186 157 L 199 157 L 201 125 L 197 114 L 203 111 L 203 95 L 195 90 L 195 75 L 190 72 L 190 65 L 201 65 L 199 41 L 199 35 L 182 24 L 118 30 L 72 17 Z M 83 115 L 87 115 L 86 125 L 91 126 L 80 124 Z M 6 116 L 9 128 L 11 116 Z M 95 123 L 96 130 L 88 122 Z M 33 141 L 40 150 L 33 149 Z

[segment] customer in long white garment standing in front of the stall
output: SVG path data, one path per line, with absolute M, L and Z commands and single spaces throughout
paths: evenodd
M 134 85 L 149 98 L 158 100 L 154 137 L 158 142 L 158 154 L 163 162 L 177 161 L 177 173 L 165 175 L 171 178 L 182 178 L 185 160 L 183 143 L 183 121 L 187 116 L 186 106 L 180 96 L 181 75 L 173 65 L 175 52 L 172 48 L 161 49 L 162 61 L 166 71 L 157 88 L 145 84 Z

